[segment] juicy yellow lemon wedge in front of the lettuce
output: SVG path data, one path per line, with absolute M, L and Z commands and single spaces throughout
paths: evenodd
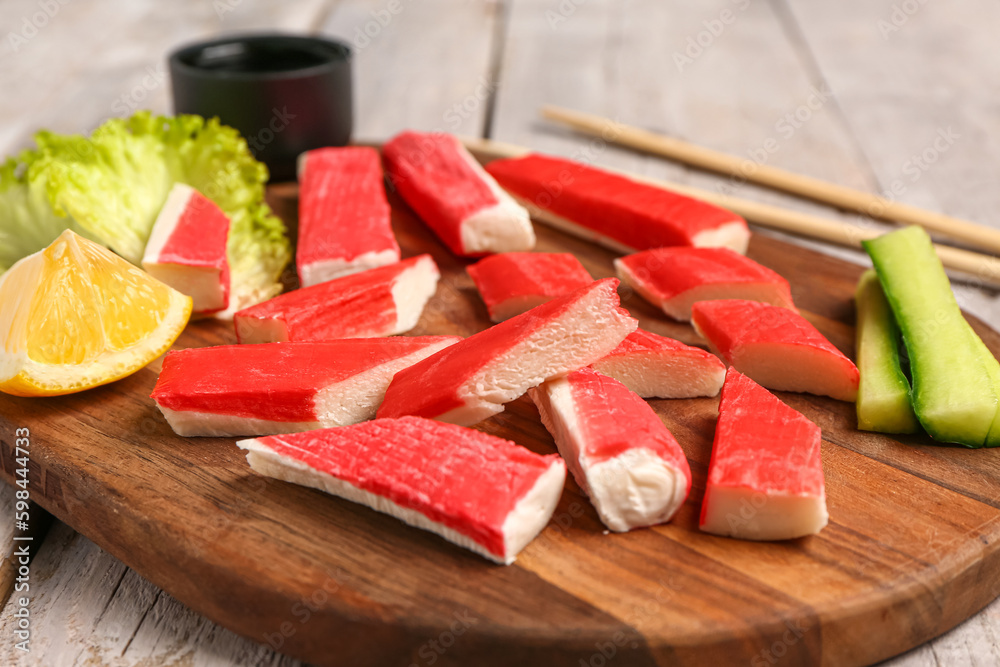
M 131 375 L 190 315 L 190 297 L 66 230 L 0 276 L 0 391 L 56 396 Z

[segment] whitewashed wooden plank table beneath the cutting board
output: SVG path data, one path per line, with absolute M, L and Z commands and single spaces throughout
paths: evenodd
M 29 145 L 42 127 L 82 132 L 135 109 L 169 112 L 165 54 L 178 43 L 317 31 L 355 45 L 360 139 L 406 127 L 486 134 L 724 184 L 548 126 L 537 111 L 548 102 L 872 192 L 900 181 L 902 201 L 1000 226 L 998 25 L 1000 4 L 988 0 L 4 0 L 0 149 Z M 951 139 L 935 144 L 942 134 Z M 1000 328 L 995 293 L 957 291 Z M 3 555 L 12 504 L 0 485 Z M 0 664 L 298 664 L 186 609 L 58 522 L 32 582 L 32 651 L 13 650 L 8 604 Z M 998 634 L 1000 602 L 892 664 L 996 664 Z

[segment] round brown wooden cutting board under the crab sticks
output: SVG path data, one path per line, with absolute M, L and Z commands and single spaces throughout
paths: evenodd
M 270 198 L 294 238 L 295 188 Z M 404 256 L 430 252 L 442 272 L 411 333 L 486 328 L 468 262 L 390 200 Z M 536 231 L 539 251 L 570 251 L 595 277 L 613 275 L 611 253 Z M 785 276 L 806 317 L 853 354 L 859 267 L 759 235 L 749 255 Z M 699 342 L 638 296 L 622 297 L 641 326 Z M 1000 350 L 1000 336 L 973 326 Z M 200 321 L 177 346 L 233 342 L 231 325 Z M 196 611 L 309 662 L 864 664 L 941 634 L 1000 593 L 1000 452 L 859 432 L 853 404 L 779 393 L 823 429 L 830 524 L 818 536 L 760 544 L 699 532 L 718 399 L 658 400 L 693 475 L 677 517 L 606 534 L 568 481 L 550 525 L 502 567 L 258 477 L 234 439 L 174 435 L 148 398 L 158 368 L 72 396 L 0 395 L 3 477 L 13 478 L 14 429 L 27 426 L 33 500 Z M 524 398 L 477 428 L 554 451 Z

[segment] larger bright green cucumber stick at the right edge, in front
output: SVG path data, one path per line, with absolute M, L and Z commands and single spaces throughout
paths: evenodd
M 930 237 L 906 227 L 864 246 L 906 345 L 920 424 L 935 440 L 982 447 L 997 413 L 997 391 Z

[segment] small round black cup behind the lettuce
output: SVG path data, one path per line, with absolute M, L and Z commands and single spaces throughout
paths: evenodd
M 183 46 L 169 62 L 174 113 L 235 127 L 272 182 L 294 180 L 303 151 L 351 139 L 351 49 L 343 42 L 236 35 Z

